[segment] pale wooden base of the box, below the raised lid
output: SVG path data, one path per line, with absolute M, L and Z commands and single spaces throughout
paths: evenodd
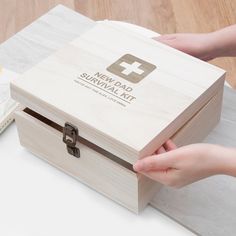
M 221 99 L 222 92 L 218 92 L 181 128 L 173 140 L 178 145 L 202 140 L 218 122 Z M 215 118 L 211 120 L 211 126 L 205 126 L 206 120 L 212 114 Z M 161 184 L 143 175 L 135 174 L 122 163 L 104 156 L 95 148 L 91 149 L 85 143 L 77 144 L 81 158 L 74 158 L 67 153 L 66 146 L 62 142 L 61 128 L 58 129 L 53 122 L 45 121 L 37 114 L 18 111 L 15 119 L 21 145 L 135 213 L 141 212 L 163 188 Z M 205 129 L 199 132 L 196 125 L 203 125 Z

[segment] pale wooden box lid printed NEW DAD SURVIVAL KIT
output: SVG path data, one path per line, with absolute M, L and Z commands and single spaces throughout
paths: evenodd
M 225 71 L 109 23 L 11 84 L 12 97 L 123 160 L 153 153 L 223 85 Z M 201 127 L 199 127 L 201 128 Z

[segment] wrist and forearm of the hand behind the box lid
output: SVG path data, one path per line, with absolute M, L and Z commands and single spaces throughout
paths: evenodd
M 228 26 L 211 33 L 214 57 L 236 56 L 236 25 Z

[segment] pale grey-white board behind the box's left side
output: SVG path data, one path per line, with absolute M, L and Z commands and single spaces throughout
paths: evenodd
M 59 5 L 0 45 L 0 65 L 23 73 L 93 25 L 89 18 Z

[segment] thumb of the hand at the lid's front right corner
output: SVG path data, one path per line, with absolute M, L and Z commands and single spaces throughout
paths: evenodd
M 138 160 L 133 168 L 137 172 L 150 170 L 166 170 L 172 167 L 173 158 L 168 157 L 168 153 L 153 155 Z

